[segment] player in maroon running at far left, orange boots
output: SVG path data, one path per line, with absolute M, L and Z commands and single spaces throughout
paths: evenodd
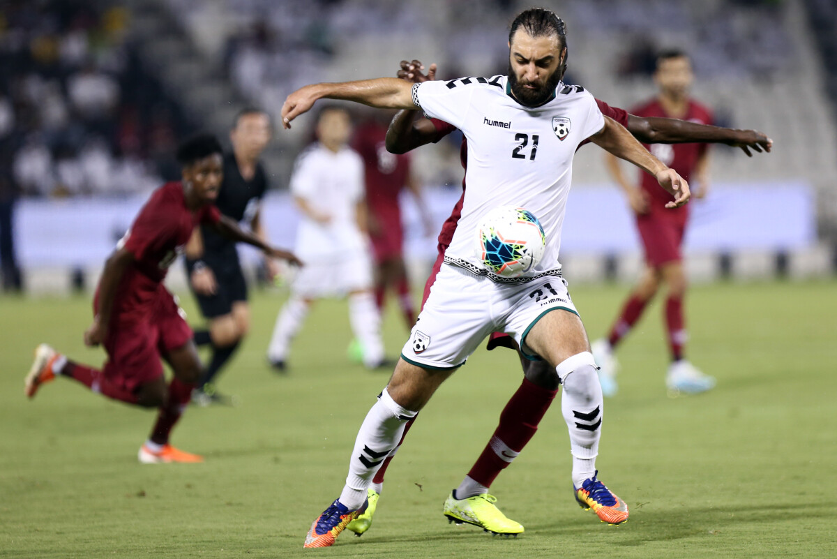
M 151 194 L 105 261 L 93 301 L 93 324 L 85 331 L 86 345 L 105 346 L 105 366 L 95 369 L 69 361 L 41 344 L 26 376 L 25 393 L 30 398 L 45 382 L 60 376 L 114 400 L 159 408 L 151 437 L 139 452 L 145 464 L 203 461 L 168 443 L 203 367 L 182 310 L 162 283 L 195 226 L 213 224 L 220 233 L 252 244 L 270 257 L 300 264 L 293 254 L 264 244 L 215 208 L 223 177 L 221 154 L 218 140 L 206 134 L 179 146 L 182 181 L 167 182 Z M 161 357 L 174 372 L 168 385 Z

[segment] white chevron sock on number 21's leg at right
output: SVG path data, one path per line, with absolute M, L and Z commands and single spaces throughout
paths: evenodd
M 602 387 L 589 351 L 567 358 L 555 370 L 564 387 L 561 411 L 570 433 L 573 485 L 578 488 L 596 472 L 598 439 L 602 434 Z

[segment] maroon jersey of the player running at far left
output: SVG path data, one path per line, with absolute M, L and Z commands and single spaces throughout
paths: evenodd
M 162 280 L 168 267 L 182 253 L 195 226 L 217 223 L 220 218 L 218 208 L 211 204 L 194 212 L 187 208 L 182 182 L 167 182 L 157 188 L 117 244 L 133 254 L 134 261 L 117 288 L 113 318 L 125 320 L 148 315 L 151 309 L 144 307 L 155 300 L 159 290 L 165 290 Z

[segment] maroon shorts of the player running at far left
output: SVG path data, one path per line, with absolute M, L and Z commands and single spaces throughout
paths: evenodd
M 148 305 L 146 320 L 136 320 L 136 315 L 129 320 L 114 316 L 104 344 L 105 377 L 131 392 L 162 377 L 162 354 L 192 339 L 192 329 L 183 320 L 174 295 L 161 287 Z

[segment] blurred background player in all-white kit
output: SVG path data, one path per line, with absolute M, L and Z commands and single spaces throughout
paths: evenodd
M 352 121 L 347 110 L 321 110 L 318 141 L 297 157 L 290 193 L 302 214 L 296 252 L 306 267 L 296 274 L 290 299 L 276 319 L 267 356 L 284 371 L 290 342 L 311 304 L 325 297 L 348 296 L 349 321 L 370 369 L 387 364 L 381 339 L 381 315 L 372 295 L 372 259 L 367 249 L 367 209 L 363 198 L 363 162 L 347 146 Z

